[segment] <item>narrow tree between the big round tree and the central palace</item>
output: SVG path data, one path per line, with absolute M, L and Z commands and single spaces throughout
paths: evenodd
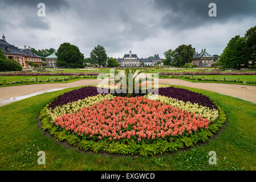
M 107 53 L 105 51 L 105 48 L 103 46 L 97 45 L 92 49 L 90 53 L 90 60 L 92 65 L 100 65 L 104 67 L 107 65 Z

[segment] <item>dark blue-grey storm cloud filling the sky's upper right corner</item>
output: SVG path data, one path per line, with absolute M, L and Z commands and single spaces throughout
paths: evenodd
M 216 3 L 217 17 L 209 17 L 209 3 Z M 165 28 L 194 28 L 256 16 L 255 0 L 155 0 L 154 6 L 165 13 L 161 18 Z

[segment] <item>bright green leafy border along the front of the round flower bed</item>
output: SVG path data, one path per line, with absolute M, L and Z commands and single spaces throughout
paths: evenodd
M 59 141 L 66 141 L 71 146 L 76 146 L 83 151 L 94 152 L 108 152 L 109 154 L 122 154 L 122 155 L 141 155 L 141 156 L 154 156 L 158 154 L 164 154 L 165 152 L 175 152 L 179 149 L 193 147 L 198 142 L 206 142 L 213 134 L 217 134 L 218 130 L 227 121 L 224 110 L 218 107 L 219 116 L 216 121 L 210 123 L 207 129 L 200 129 L 197 132 L 189 134 L 188 132 L 176 136 L 157 138 L 155 140 L 141 140 L 137 141 L 135 138 L 121 139 L 121 140 L 109 140 L 103 138 L 100 140 L 88 140 L 78 136 L 72 131 L 67 131 L 62 127 L 56 126 L 53 122 L 50 122 L 50 116 L 47 114 L 46 105 L 39 113 L 39 123 L 42 124 L 44 131 L 49 131 L 50 135 L 54 139 Z M 174 140 L 172 140 L 173 138 Z

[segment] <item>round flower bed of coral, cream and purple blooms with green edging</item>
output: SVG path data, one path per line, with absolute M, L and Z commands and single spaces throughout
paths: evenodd
M 120 97 L 87 86 L 58 96 L 40 112 L 44 130 L 82 150 L 143 156 L 205 142 L 226 121 L 213 101 L 161 85 L 159 95 Z

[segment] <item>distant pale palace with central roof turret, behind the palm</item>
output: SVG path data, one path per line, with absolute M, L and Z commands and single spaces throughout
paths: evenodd
M 141 59 L 136 55 L 132 54 L 132 51 L 129 54 L 125 54 L 123 58 L 116 59 L 118 63 L 120 63 L 120 67 L 141 67 L 141 65 L 154 66 L 161 65 L 162 59 L 159 55 L 155 55 L 153 58 L 145 58 L 141 57 Z

